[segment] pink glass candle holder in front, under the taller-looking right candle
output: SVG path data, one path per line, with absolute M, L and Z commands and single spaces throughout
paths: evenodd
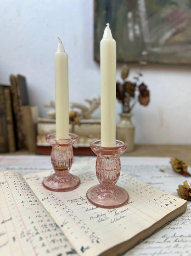
M 127 148 L 126 143 L 116 140 L 116 147 L 101 147 L 101 140 L 90 143 L 96 153 L 96 176 L 100 184 L 91 187 L 86 196 L 88 200 L 102 208 L 117 208 L 129 200 L 127 191 L 115 185 L 121 171 L 119 156 Z

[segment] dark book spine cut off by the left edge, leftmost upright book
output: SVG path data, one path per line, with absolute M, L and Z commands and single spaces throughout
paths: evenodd
M 8 150 L 4 85 L 0 85 L 0 153 L 8 152 Z

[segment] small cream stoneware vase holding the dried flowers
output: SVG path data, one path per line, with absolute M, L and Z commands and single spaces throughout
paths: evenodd
M 131 122 L 132 115 L 132 113 L 120 113 L 120 120 L 116 125 L 116 139 L 127 144 L 127 152 L 135 147 L 135 125 Z

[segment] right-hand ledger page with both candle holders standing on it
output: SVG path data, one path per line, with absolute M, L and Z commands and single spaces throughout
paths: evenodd
M 95 165 L 96 159 L 74 164 L 71 173 L 79 176 L 81 185 L 63 193 L 51 192 L 42 186 L 43 178 L 51 173 L 24 176 L 80 255 L 98 255 L 134 237 L 185 203 L 185 200 L 121 173 L 117 184 L 128 191 L 129 202 L 120 208 L 98 208 L 86 198 L 87 190 L 98 184 Z M 122 167 L 125 169 L 124 165 Z M 138 171 L 141 172 L 140 166 Z

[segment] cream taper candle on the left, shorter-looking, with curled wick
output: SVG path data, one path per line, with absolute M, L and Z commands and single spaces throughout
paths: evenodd
M 56 138 L 69 136 L 68 58 L 59 39 L 55 60 Z

